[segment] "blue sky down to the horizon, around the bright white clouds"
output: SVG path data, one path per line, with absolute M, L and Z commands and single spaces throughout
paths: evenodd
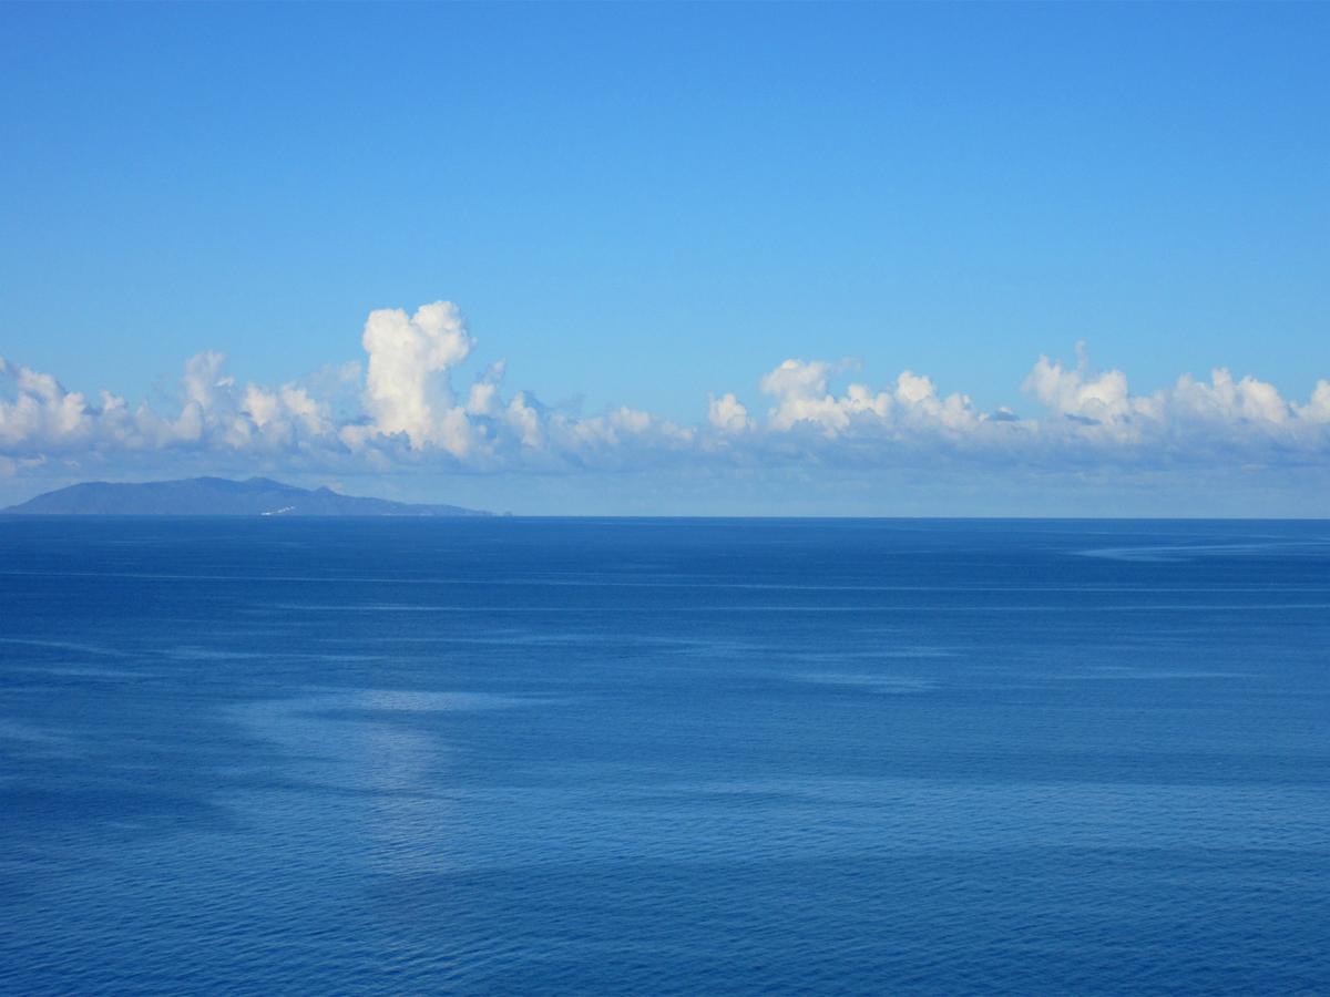
M 138 427 L 128 444 L 11 412 L 0 497 L 92 471 L 253 468 L 524 512 L 1108 512 L 1144 489 L 1140 510 L 1166 513 L 1214 481 L 1230 492 L 1216 510 L 1315 512 L 1327 39 L 1313 4 L 5 5 L 0 356 L 93 423 L 104 389 L 177 419 L 182 364 L 206 351 L 237 399 L 194 437 Z M 375 310 L 438 300 L 468 346 L 431 372 L 451 391 L 423 388 L 436 421 L 503 359 L 504 405 L 541 417 L 629 407 L 705 429 L 708 396 L 733 393 L 765 443 L 717 460 L 697 440 L 638 447 L 654 431 L 625 423 L 579 437 L 614 436 L 612 459 L 532 456 L 529 436 L 520 459 L 416 445 L 430 433 L 375 415 L 362 332 Z M 1033 389 L 1040 355 L 1068 372 L 1079 342 L 1081 387 L 1121 371 L 1133 397 L 1172 393 L 1091 411 L 1061 382 Z M 1136 432 L 1021 444 L 1007 467 L 952 440 L 948 477 L 911 472 L 912 497 L 886 498 L 883 480 L 939 461 L 902 444 L 898 417 L 890 445 L 850 456 L 767 439 L 786 396 L 762 379 L 787 359 L 830 364 L 818 399 L 899 391 L 912 371 L 979 415 L 1056 423 L 1041 440 L 1063 420 Z M 329 388 L 351 362 L 360 379 Z M 1295 432 L 1253 429 L 1260 400 L 1214 415 L 1210 396 L 1174 397 L 1217 367 L 1277 391 Z M 0 404 L 56 404 L 15 378 Z M 226 420 L 253 423 L 251 383 L 301 386 L 336 445 L 219 441 Z M 867 416 L 847 429 L 827 411 L 777 428 L 859 440 Z M 1158 423 L 1144 437 L 1142 420 Z M 363 423 L 368 461 L 342 433 Z M 1269 468 L 1256 485 L 1253 468 Z M 789 484 L 806 477 L 811 495 Z

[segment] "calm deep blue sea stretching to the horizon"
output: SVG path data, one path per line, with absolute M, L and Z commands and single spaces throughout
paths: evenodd
M 1330 522 L 0 518 L 0 992 L 1330 993 Z

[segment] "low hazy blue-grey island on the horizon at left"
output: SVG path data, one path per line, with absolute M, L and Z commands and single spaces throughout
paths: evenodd
M 489 516 L 459 505 L 414 505 L 360 498 L 330 488 L 295 488 L 266 477 L 231 481 L 116 484 L 86 481 L 0 509 L 7 516 Z

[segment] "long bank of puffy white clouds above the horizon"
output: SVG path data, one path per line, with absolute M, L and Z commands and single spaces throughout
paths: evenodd
M 1330 456 L 1330 380 L 1305 401 L 1274 386 L 1213 370 L 1133 395 L 1121 371 L 1091 368 L 1081 347 L 1064 364 L 1040 356 L 1020 391 L 1041 407 L 984 412 L 960 392 L 900 372 L 880 388 L 843 380 L 847 362 L 787 359 L 758 382 L 759 397 L 700 399 L 694 425 L 629 405 L 581 416 L 528 391 L 504 392 L 504 362 L 464 389 L 454 374 L 476 348 L 451 302 L 415 314 L 370 314 L 366 362 L 282 386 L 241 386 L 225 356 L 185 362 L 170 411 L 130 407 L 102 391 L 66 391 L 51 374 L 0 358 L 0 473 L 49 473 L 88 463 L 150 471 L 181 455 L 218 467 L 307 472 L 436 471 L 576 473 L 668 465 L 846 469 L 1100 467 L 1279 468 Z M 705 404 L 705 408 L 704 408 Z

